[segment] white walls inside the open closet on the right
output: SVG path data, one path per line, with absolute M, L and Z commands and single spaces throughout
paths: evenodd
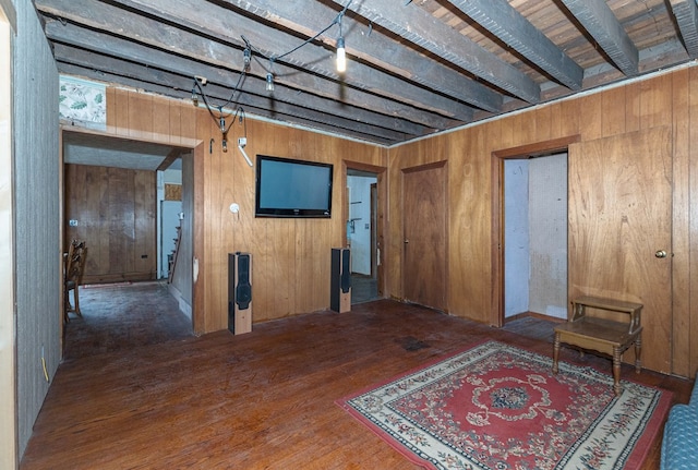
M 567 154 L 504 162 L 504 316 L 567 317 Z

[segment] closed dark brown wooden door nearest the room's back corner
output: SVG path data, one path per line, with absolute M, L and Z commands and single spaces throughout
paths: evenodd
M 404 298 L 446 311 L 446 162 L 402 172 Z

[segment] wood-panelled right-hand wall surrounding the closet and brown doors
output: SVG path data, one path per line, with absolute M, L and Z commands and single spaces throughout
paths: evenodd
M 401 298 L 400 170 L 449 161 L 450 314 L 492 322 L 492 153 L 579 135 L 591 141 L 671 125 L 673 146 L 673 309 L 660 313 L 672 330 L 670 345 L 646 344 L 646 351 L 671 348 L 671 371 L 694 376 L 698 367 L 698 68 L 544 105 L 515 116 L 389 149 L 390 207 L 388 290 Z M 589 178 L 594 178 L 589 174 Z M 634 191 L 652 191 L 636 188 Z M 571 260 L 583 262 L 582 260 Z M 648 352 L 651 353 L 651 352 Z

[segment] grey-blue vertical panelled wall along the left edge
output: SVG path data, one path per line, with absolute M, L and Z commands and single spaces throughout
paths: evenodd
M 22 456 L 61 360 L 58 70 L 32 2 L 15 1 L 12 174 L 16 312 L 17 449 Z M 27 60 L 31 58 L 31 60 Z M 7 268 L 7 267 L 5 267 Z M 3 315 L 12 315 L 4 312 Z M 3 415 L 3 420 L 13 420 Z M 12 443 L 14 444 L 14 443 Z

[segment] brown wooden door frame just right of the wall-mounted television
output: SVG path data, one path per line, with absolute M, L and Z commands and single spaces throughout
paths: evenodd
M 342 160 L 341 161 L 341 188 L 347 188 L 347 173 L 348 170 L 366 171 L 375 174 L 376 179 L 376 214 L 375 214 L 375 243 L 372 243 L 371 251 L 376 252 L 377 269 L 375 273 L 378 298 L 383 299 L 385 296 L 385 286 L 387 284 L 386 270 L 384 260 L 388 260 L 388 245 L 385 243 L 385 233 L 387 233 L 387 201 L 388 189 L 386 184 L 387 167 L 381 167 L 376 165 L 362 164 L 360 161 Z M 341 191 L 342 201 L 341 216 L 342 220 L 349 220 L 349 201 L 347 198 L 347 191 Z M 347 224 L 342 224 L 342 241 L 341 245 L 347 246 Z M 372 240 L 373 241 L 373 240 Z

